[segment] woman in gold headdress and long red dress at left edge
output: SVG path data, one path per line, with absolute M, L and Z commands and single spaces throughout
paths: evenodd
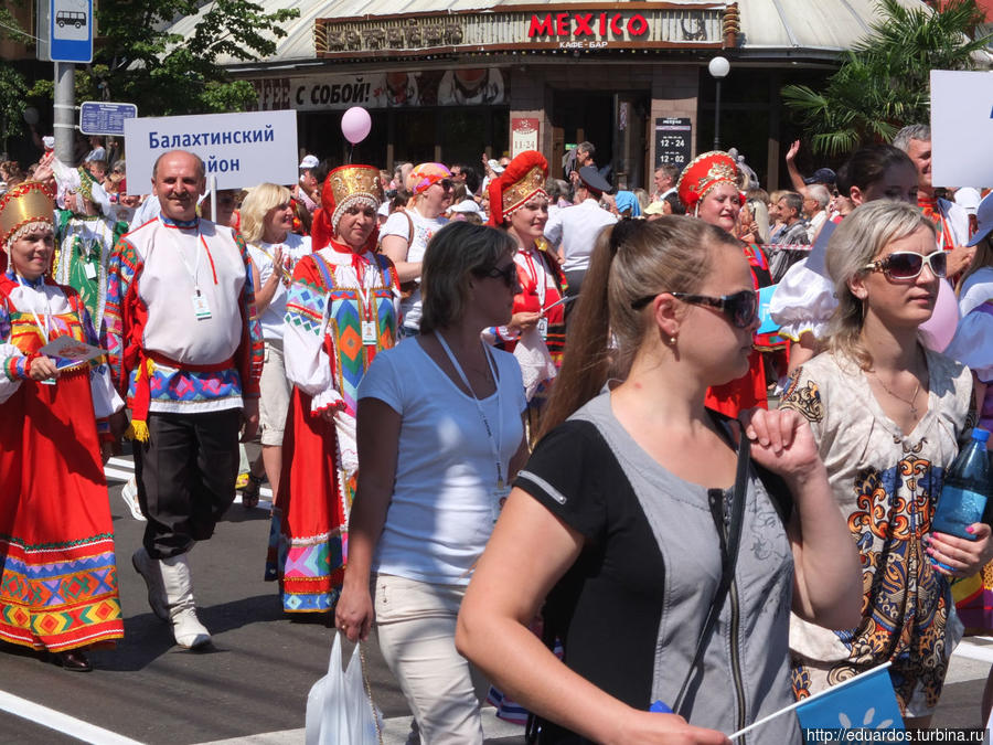
M 78 294 L 45 277 L 55 237 L 42 184 L 0 199 L 0 640 L 85 672 L 84 649 L 124 637 L 102 461 L 124 404 L 103 358 L 42 351 L 60 337 L 84 358 L 99 345 Z

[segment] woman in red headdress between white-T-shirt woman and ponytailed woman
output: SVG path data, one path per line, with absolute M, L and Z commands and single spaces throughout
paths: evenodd
M 532 433 L 537 432 L 537 415 L 562 366 L 565 348 L 565 276 L 544 237 L 548 222 L 547 175 L 545 157 L 526 150 L 489 187 L 490 224 L 504 228 L 517 244 L 514 264 L 520 286 L 511 322 L 490 333 L 499 347 L 513 352 L 521 365 Z

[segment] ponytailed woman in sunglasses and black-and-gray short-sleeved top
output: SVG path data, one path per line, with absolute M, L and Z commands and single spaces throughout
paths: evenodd
M 791 609 L 832 628 L 858 618 L 856 554 L 807 423 L 756 412 L 738 476 L 739 427 L 704 406 L 747 371 L 756 305 L 740 244 L 718 227 L 663 217 L 601 234 L 546 434 L 456 637 L 543 721 L 541 743 L 727 742 L 793 700 Z M 728 502 L 737 552 L 718 534 Z M 543 602 L 562 661 L 527 630 Z M 800 738 L 790 713 L 738 742 Z

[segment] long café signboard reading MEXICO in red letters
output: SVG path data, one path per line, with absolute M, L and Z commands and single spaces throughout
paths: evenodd
M 737 3 L 499 7 L 314 21 L 318 57 L 434 57 L 558 50 L 734 46 Z

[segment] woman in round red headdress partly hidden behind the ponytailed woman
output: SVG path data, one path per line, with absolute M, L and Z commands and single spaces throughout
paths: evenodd
M 714 150 L 694 158 L 683 170 L 676 191 L 680 201 L 686 206 L 686 214 L 734 234 L 738 212 L 741 210 L 741 191 L 738 188 L 738 167 L 729 155 Z M 771 285 L 769 262 L 762 249 L 757 245 L 743 243 L 741 251 L 748 259 L 755 289 Z M 767 345 L 760 337 L 756 337 L 755 341 L 764 348 Z M 711 387 L 706 405 L 732 417 L 756 406 L 768 408 L 761 352 L 751 350 L 748 373 L 743 377 Z

